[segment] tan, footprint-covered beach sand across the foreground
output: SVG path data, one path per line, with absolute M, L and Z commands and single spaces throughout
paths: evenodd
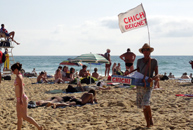
M 0 84 L 0 129 L 17 128 L 16 99 L 14 93 L 15 76 Z M 48 99 L 52 96 L 74 94 L 47 94 L 46 91 L 65 89 L 67 84 L 32 84 L 36 79 L 24 78 L 25 93 L 29 101 Z M 160 81 L 163 90 L 154 90 L 151 108 L 154 120 L 152 130 L 193 129 L 193 97 L 176 97 L 175 94 L 192 93 L 192 83 L 179 83 L 176 80 Z M 28 114 L 47 130 L 140 130 L 146 123 L 141 109 L 135 105 L 136 90 L 112 87 L 110 90 L 97 90 L 98 104 L 82 107 L 53 109 L 38 107 L 28 109 Z M 27 121 L 23 130 L 36 128 Z

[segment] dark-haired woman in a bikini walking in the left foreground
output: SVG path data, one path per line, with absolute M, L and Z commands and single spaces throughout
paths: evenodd
M 36 126 L 38 130 L 42 130 L 42 126 L 38 125 L 36 121 L 27 114 L 28 97 L 24 93 L 23 77 L 22 74 L 20 73 L 21 68 L 22 64 L 20 63 L 15 63 L 11 66 L 12 72 L 16 75 L 14 86 L 15 86 L 15 96 L 17 99 L 16 103 L 17 119 L 18 119 L 17 129 L 21 130 L 24 119 L 29 123 L 33 124 L 34 126 Z

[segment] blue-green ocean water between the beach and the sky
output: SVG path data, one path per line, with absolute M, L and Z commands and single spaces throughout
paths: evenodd
M 76 56 L 14 56 L 14 59 L 15 62 L 20 62 L 22 64 L 22 67 L 26 72 L 31 72 L 33 68 L 35 68 L 38 73 L 45 70 L 48 74 L 54 74 L 60 62 L 75 57 Z M 141 57 L 142 56 L 136 57 L 134 68 L 136 68 L 137 59 Z M 187 72 L 188 75 L 193 73 L 191 65 L 189 64 L 189 61 L 193 60 L 193 56 L 152 56 L 152 58 L 155 58 L 158 61 L 159 74 L 164 74 L 165 72 L 169 74 L 172 72 L 175 77 L 180 77 L 184 72 Z M 121 70 L 125 70 L 125 63 L 119 58 L 119 56 L 111 56 L 111 60 L 112 64 L 114 62 L 120 63 Z M 94 68 L 98 68 L 100 74 L 105 74 L 105 64 L 91 66 L 84 62 L 83 64 L 88 66 L 87 69 L 91 70 L 90 72 L 93 72 Z M 82 68 L 81 66 L 68 67 L 73 67 L 76 71 L 79 71 Z M 110 70 L 110 74 L 111 73 L 112 70 Z

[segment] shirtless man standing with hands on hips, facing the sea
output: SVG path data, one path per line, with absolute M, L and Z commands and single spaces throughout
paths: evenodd
M 127 49 L 126 53 L 120 56 L 120 58 L 125 61 L 126 70 L 128 69 L 130 71 L 134 70 L 133 62 L 135 61 L 135 57 L 136 55 L 133 52 L 131 52 L 130 48 Z

